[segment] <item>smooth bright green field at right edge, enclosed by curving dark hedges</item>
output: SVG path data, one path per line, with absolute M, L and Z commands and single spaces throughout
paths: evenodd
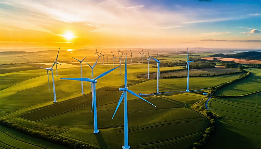
M 250 68 L 245 69 L 251 72 L 251 75 L 246 79 L 233 83 L 225 88 L 215 92 L 215 95 L 245 95 L 252 92 L 260 91 L 261 89 L 261 71 L 260 69 Z

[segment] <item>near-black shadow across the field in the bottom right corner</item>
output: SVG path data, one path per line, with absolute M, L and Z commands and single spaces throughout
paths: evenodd
M 226 120 L 215 118 L 215 121 L 216 121 L 215 132 L 211 135 L 211 139 L 206 144 L 205 148 L 258 149 L 257 146 L 253 145 L 253 142 L 249 138 L 233 131 L 233 130 L 237 130 L 238 128 L 228 125 Z M 248 132 L 245 132 L 245 133 L 248 133 Z M 255 144 L 257 144 L 257 143 L 255 143 Z

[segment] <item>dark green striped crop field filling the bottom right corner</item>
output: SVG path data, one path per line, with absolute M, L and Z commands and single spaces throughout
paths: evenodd
M 238 98 L 213 98 L 209 105 L 222 116 L 207 148 L 255 148 L 261 146 L 261 93 Z M 226 135 L 222 135 L 226 132 Z M 222 143 L 220 143 L 222 142 Z

